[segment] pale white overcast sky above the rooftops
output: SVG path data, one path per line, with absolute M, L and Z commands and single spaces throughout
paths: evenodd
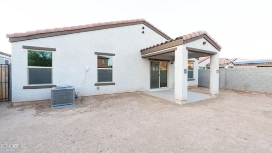
M 271 1 L 0 1 L 0 51 L 6 34 L 144 18 L 172 38 L 205 30 L 222 46 L 220 58 L 272 58 Z

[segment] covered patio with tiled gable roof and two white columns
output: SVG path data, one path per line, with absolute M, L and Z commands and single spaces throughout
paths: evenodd
M 183 35 L 176 39 L 141 49 L 141 57 L 149 61 L 168 61 L 171 72 L 167 69 L 167 86 L 155 91 L 152 89 L 151 65 L 151 90 L 147 94 L 175 101 L 177 104 L 187 104 L 211 97 L 217 97 L 219 92 L 219 52 L 221 46 L 205 31 Z M 210 56 L 210 95 L 188 91 L 188 59 Z M 164 64 L 165 65 L 165 64 Z M 159 68 L 160 69 L 160 68 Z M 160 76 L 159 73 L 155 75 Z M 175 73 L 175 74 L 174 74 Z M 172 75 L 172 77 L 169 77 Z M 169 79 L 170 78 L 170 79 Z M 198 78 L 195 78 L 198 79 Z M 160 77 L 159 77 L 160 80 Z M 165 83 L 166 81 L 164 81 Z M 173 86 L 169 83 L 173 82 Z M 161 82 L 160 82 L 161 83 Z M 154 87 L 154 86 L 153 86 Z M 166 89 L 166 90 L 165 90 Z

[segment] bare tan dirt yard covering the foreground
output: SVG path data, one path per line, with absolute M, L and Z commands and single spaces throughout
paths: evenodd
M 272 152 L 269 94 L 220 90 L 183 106 L 144 93 L 59 110 L 10 106 L 0 105 L 0 152 Z

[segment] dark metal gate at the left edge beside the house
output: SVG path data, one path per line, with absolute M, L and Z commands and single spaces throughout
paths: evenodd
M 10 100 L 10 65 L 0 64 L 0 101 Z

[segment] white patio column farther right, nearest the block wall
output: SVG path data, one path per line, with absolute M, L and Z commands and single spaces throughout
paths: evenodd
M 212 55 L 210 58 L 210 94 L 217 96 L 219 93 L 219 55 Z

